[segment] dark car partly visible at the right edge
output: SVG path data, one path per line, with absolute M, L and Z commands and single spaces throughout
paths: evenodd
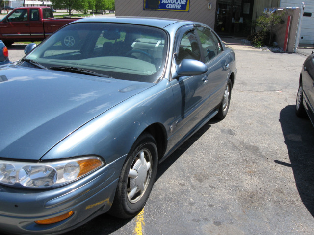
M 302 66 L 295 113 L 299 117 L 308 115 L 314 127 L 314 53 L 308 56 Z

